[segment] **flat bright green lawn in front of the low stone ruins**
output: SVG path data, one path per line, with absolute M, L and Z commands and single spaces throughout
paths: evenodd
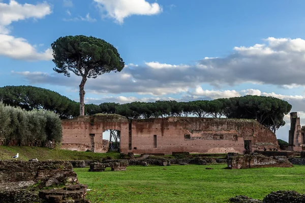
M 88 189 L 105 189 L 109 197 L 104 202 L 228 202 L 235 195 L 262 199 L 276 190 L 305 193 L 305 166 L 247 170 L 225 170 L 225 166 L 128 166 L 123 172 L 88 172 L 88 168 L 74 171 Z

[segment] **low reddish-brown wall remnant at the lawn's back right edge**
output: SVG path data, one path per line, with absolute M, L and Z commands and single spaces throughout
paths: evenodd
M 232 156 L 227 159 L 228 168 L 254 168 L 254 167 L 292 167 L 285 156 L 268 157 L 261 154 Z

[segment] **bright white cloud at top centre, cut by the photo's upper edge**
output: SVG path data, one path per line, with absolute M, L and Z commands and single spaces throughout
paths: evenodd
M 103 16 L 114 18 L 123 23 L 131 15 L 156 15 L 162 12 L 158 3 L 149 4 L 145 0 L 94 0 Z M 105 15 L 106 13 L 106 15 Z

